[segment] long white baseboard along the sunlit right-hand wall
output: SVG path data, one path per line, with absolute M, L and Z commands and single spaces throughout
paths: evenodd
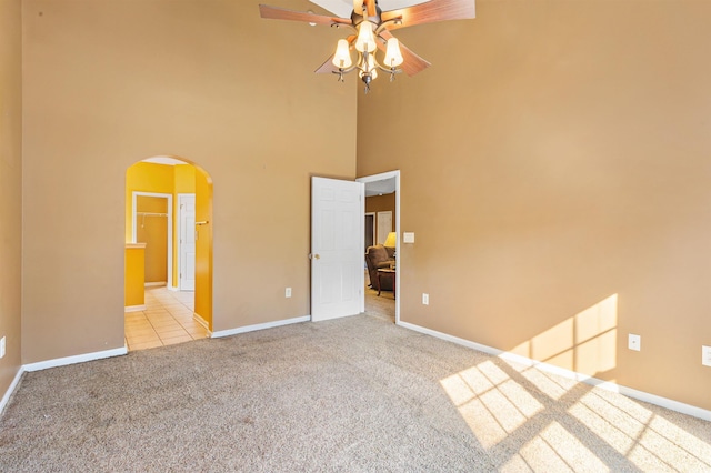
M 691 415 L 693 417 L 699 417 L 704 421 L 711 421 L 711 411 L 697 407 L 695 405 L 684 404 L 683 402 L 674 401 L 668 397 L 662 397 L 655 394 L 650 394 L 643 391 L 638 391 L 632 388 L 622 386 L 617 383 L 612 383 L 610 381 L 604 381 L 587 374 L 577 373 L 574 371 L 567 370 L 564 368 L 555 366 L 553 364 L 544 363 L 542 361 L 532 360 L 530 358 L 522 356 L 515 353 L 504 352 L 503 350 L 494 349 L 488 345 L 482 345 L 481 343 L 475 343 L 469 340 L 460 339 L 458 336 L 449 335 L 447 333 L 438 332 L 435 330 L 427 329 L 424 326 L 415 325 L 413 323 L 400 322 L 398 323 L 398 325 L 415 332 L 424 333 L 425 335 L 431 335 L 438 339 L 447 340 L 448 342 L 457 343 L 458 345 L 463 345 L 480 352 L 499 356 L 503 360 L 521 363 L 527 366 L 535 366 L 541 371 L 558 374 L 568 379 L 579 381 L 581 383 L 601 388 L 607 391 L 612 391 L 612 392 L 625 395 L 628 397 L 635 399 L 638 401 L 648 402 L 650 404 L 659 405 L 661 407 L 665 407 L 671 411 L 681 412 L 682 414 Z

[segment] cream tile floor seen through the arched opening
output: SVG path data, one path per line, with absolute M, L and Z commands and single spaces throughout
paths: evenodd
M 146 288 L 146 310 L 124 314 L 129 351 L 204 339 L 208 331 L 193 318 L 194 292 Z

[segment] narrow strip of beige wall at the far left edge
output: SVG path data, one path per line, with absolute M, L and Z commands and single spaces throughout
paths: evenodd
M 22 31 L 20 0 L 0 0 L 0 399 L 20 369 Z

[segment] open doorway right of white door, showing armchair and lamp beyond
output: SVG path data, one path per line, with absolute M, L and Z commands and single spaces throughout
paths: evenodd
M 370 232 L 367 231 L 368 234 L 364 235 L 365 260 L 368 262 L 369 246 L 379 246 L 377 250 L 379 253 L 383 252 L 381 248 L 384 246 L 389 260 L 382 264 L 380 271 L 382 274 L 379 274 L 377 269 L 375 271 L 373 268 L 369 269 L 367 264 L 363 291 L 365 313 L 399 323 L 400 303 L 397 294 L 400 291 L 401 268 L 399 261 L 400 239 L 398 238 L 400 235 L 400 171 L 359 178 L 357 181 L 365 185 L 365 228 L 368 229 L 369 219 L 373 223 Z M 371 242 L 372 244 L 369 244 Z M 389 269 L 392 269 L 392 272 L 387 271 Z M 381 288 L 378 279 L 388 290 L 379 291 Z M 379 292 L 380 294 L 378 294 Z

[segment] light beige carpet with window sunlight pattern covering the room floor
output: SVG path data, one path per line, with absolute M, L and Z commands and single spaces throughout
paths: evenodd
M 370 315 L 27 373 L 0 471 L 710 471 L 711 425 Z

